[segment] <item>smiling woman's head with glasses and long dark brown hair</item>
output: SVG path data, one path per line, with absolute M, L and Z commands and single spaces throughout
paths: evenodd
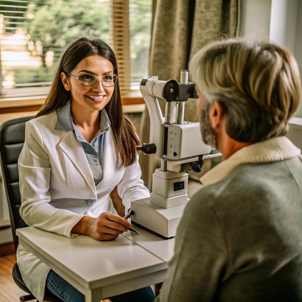
M 113 82 L 108 83 L 108 76 L 112 77 Z M 81 128 L 81 120 L 86 120 L 89 123 L 94 121 L 97 129 L 98 111 L 106 107 L 121 162 L 125 166 L 135 162 L 138 135 L 123 114 L 117 61 L 104 41 L 83 37 L 67 48 L 59 62 L 46 102 L 36 117 L 57 110 L 69 100 L 73 120 Z M 90 136 L 93 138 L 94 134 Z

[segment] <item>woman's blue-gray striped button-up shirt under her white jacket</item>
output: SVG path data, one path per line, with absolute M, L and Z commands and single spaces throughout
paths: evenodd
M 105 135 L 111 124 L 106 109 L 101 111 L 100 130 L 95 134 L 93 140 L 88 143 L 83 137 L 81 131 L 72 122 L 70 101 L 59 109 L 58 121 L 55 130 L 72 131 L 74 130 L 76 139 L 82 144 L 91 169 L 95 185 L 103 179 L 103 171 L 101 167 L 103 151 L 105 146 Z

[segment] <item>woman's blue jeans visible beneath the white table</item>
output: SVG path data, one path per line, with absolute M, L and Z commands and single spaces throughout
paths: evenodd
M 85 296 L 54 271 L 48 273 L 45 290 L 50 291 L 64 302 L 85 302 Z M 107 299 L 110 299 L 112 302 L 153 302 L 155 295 L 152 288 L 147 286 Z

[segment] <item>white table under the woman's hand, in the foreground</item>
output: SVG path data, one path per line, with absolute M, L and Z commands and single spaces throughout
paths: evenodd
M 86 302 L 164 281 L 174 239 L 163 240 L 135 226 L 114 241 L 78 235 L 71 239 L 26 227 L 20 244 L 85 295 Z

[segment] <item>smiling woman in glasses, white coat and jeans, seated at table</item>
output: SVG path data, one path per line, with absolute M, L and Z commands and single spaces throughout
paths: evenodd
M 80 38 L 63 54 L 45 104 L 25 127 L 18 160 L 21 217 L 68 237 L 117 238 L 131 227 L 124 218 L 130 202 L 149 197 L 140 179 L 137 144 L 122 112 L 113 51 L 101 40 Z M 120 216 L 111 213 L 111 192 Z M 85 301 L 20 245 L 17 262 L 39 301 L 45 288 L 63 301 Z M 111 300 L 153 301 L 154 294 L 147 287 Z

